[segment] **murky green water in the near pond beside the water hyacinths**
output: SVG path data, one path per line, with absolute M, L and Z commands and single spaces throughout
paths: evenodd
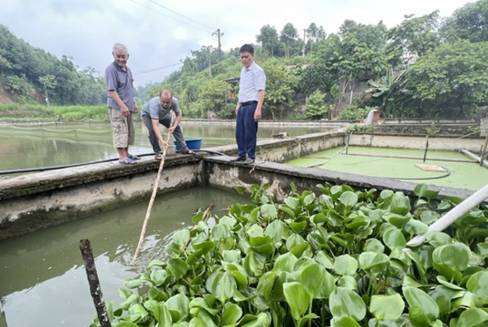
M 238 200 L 237 194 L 200 187 L 157 197 L 136 267 L 129 262 L 146 202 L 1 241 L 0 327 L 89 326 L 95 309 L 81 266 L 81 239 L 91 241 L 105 301 L 118 307 L 118 287 L 150 260 L 161 258 L 165 240 L 191 225 L 199 207 L 213 203 L 217 210 Z

